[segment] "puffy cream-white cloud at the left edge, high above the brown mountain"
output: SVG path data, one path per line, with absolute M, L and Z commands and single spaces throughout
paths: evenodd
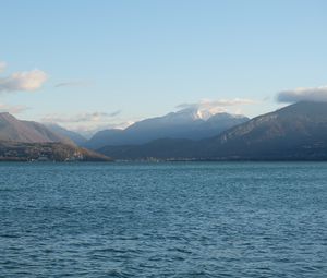
M 47 74 L 40 70 L 16 72 L 8 77 L 0 77 L 0 93 L 17 90 L 33 92 L 40 88 L 47 78 Z

